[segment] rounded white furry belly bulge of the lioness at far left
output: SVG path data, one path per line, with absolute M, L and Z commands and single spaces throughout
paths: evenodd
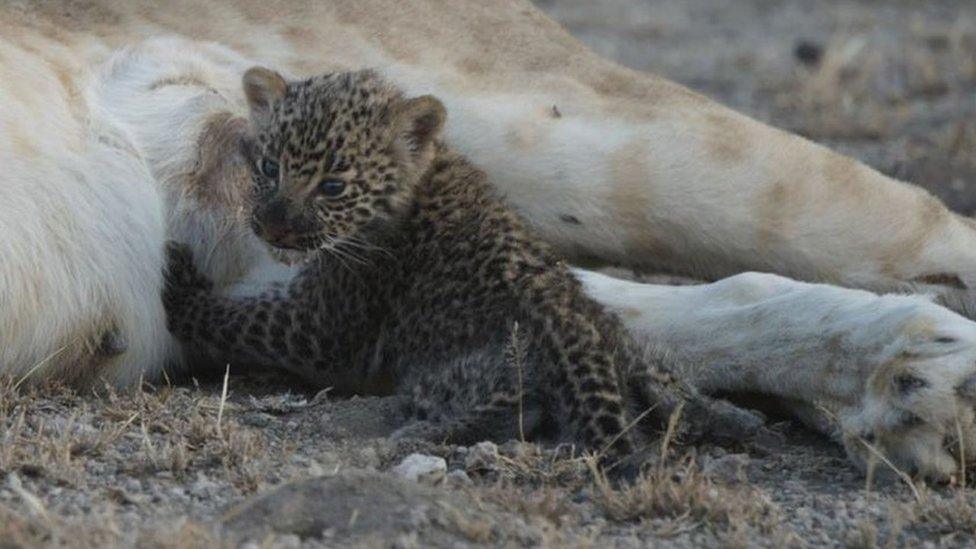
M 126 131 L 98 111 L 92 78 L 82 79 L 89 116 L 79 116 L 45 93 L 53 77 L 29 62 L 22 70 L 50 100 L 24 117 L 29 98 L 0 86 L 0 371 L 98 373 L 119 384 L 155 375 L 172 350 L 158 298 L 166 220 L 155 181 Z M 107 330 L 128 350 L 89 369 Z

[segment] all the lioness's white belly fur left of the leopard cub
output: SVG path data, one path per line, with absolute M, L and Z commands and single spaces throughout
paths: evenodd
M 226 286 L 251 269 L 287 276 L 246 225 L 185 192 L 207 115 L 243 112 L 239 75 L 251 64 L 182 39 L 125 48 L 81 79 L 85 118 L 67 102 L 32 113 L 30 138 L 57 151 L 41 157 L 18 154 L 18 113 L 0 110 L 0 372 L 124 386 L 178 362 L 159 298 L 167 238 L 189 242 Z M 187 75 L 206 86 L 153 89 Z M 16 105 L 6 90 L 0 102 Z M 125 352 L 89 367 L 110 329 Z

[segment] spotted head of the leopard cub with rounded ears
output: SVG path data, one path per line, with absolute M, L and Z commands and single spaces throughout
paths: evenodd
M 372 71 L 288 82 L 244 75 L 255 146 L 253 225 L 277 248 L 368 239 L 407 208 L 444 125 L 431 96 L 408 99 Z

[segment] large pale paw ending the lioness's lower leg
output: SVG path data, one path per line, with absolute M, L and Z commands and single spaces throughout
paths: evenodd
M 976 323 L 926 305 L 906 308 L 879 341 L 862 398 L 838 415 L 860 465 L 948 480 L 976 462 Z

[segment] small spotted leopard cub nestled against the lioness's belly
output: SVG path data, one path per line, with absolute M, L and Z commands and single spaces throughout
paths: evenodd
M 524 434 L 616 459 L 679 405 L 707 429 L 743 417 L 675 379 L 584 295 L 441 141 L 436 98 L 407 98 L 372 71 L 288 82 L 254 68 L 243 83 L 254 230 L 313 258 L 285 287 L 228 297 L 171 246 L 164 301 L 179 339 L 319 385 L 409 395 L 404 437 Z

